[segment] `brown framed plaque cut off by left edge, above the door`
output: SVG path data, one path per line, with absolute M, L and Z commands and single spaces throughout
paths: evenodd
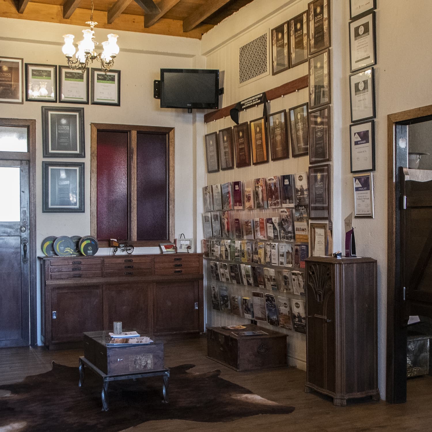
M 22 58 L 0 57 L 0 102 L 24 103 Z

